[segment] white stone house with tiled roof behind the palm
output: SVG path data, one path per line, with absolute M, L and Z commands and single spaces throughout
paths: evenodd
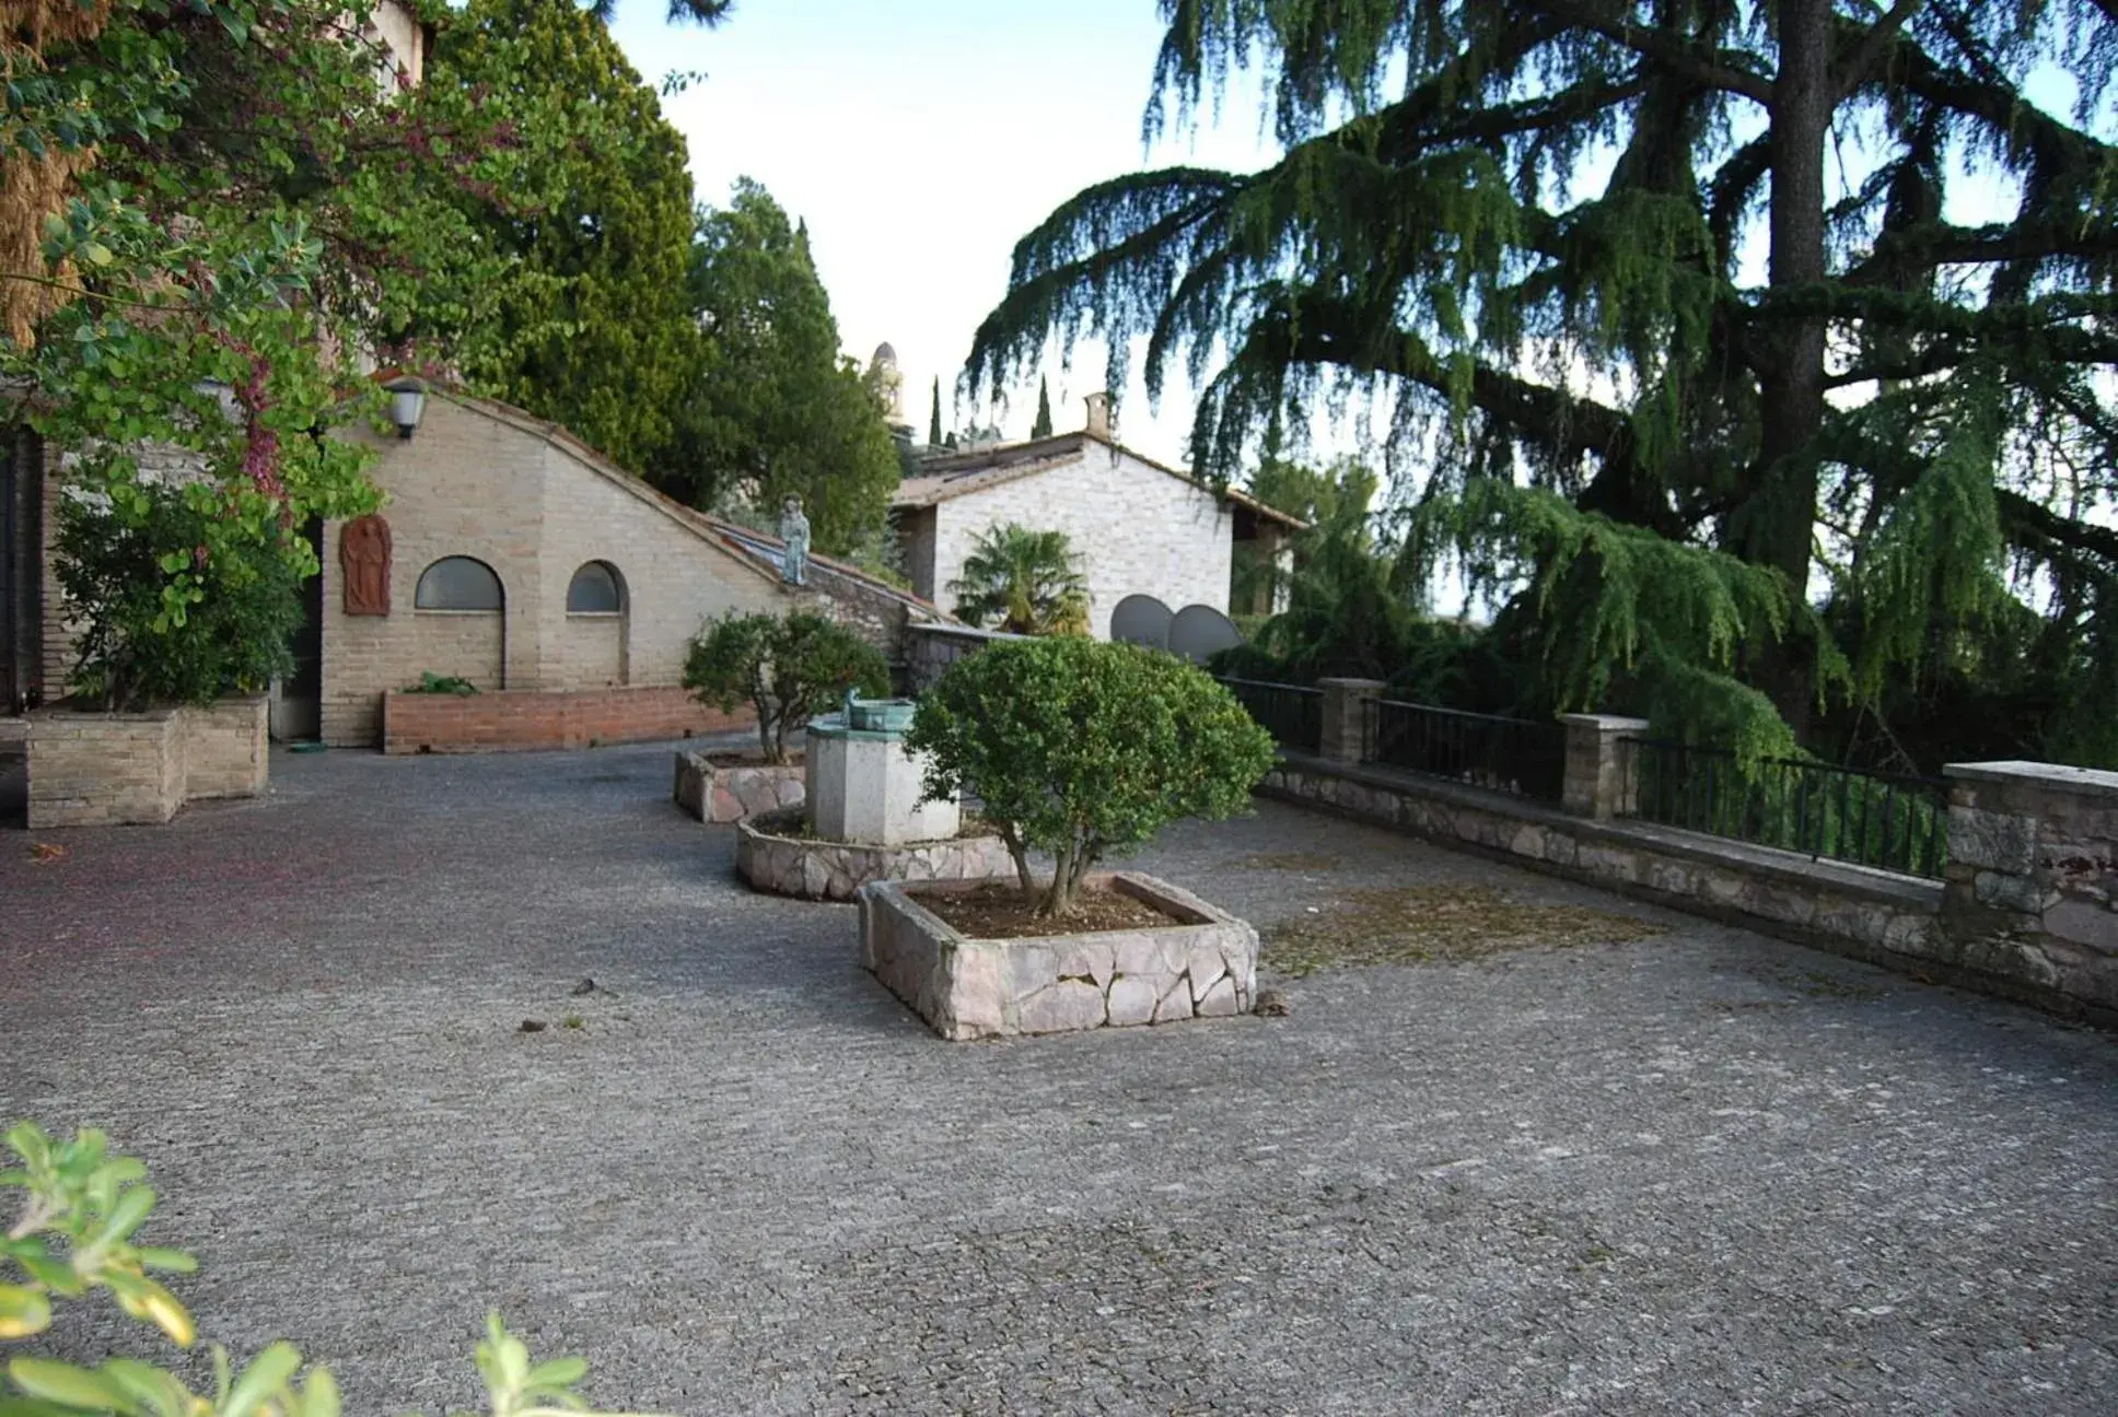
M 949 606 L 949 582 L 991 527 L 1017 521 L 1065 532 L 1089 580 L 1089 629 L 1110 638 L 1118 602 L 1142 595 L 1169 610 L 1231 606 L 1235 544 L 1286 559 L 1303 523 L 1241 491 L 1216 491 L 1186 472 L 1142 458 L 1112 436 L 1110 396 L 1089 398 L 1076 432 L 1029 443 L 926 458 L 892 502 L 913 591 Z

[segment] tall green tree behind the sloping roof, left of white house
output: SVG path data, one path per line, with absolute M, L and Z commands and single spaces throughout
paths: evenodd
M 807 229 L 762 186 L 737 182 L 726 208 L 699 216 L 688 290 L 705 364 L 657 485 L 693 506 L 737 496 L 773 508 L 798 496 L 824 555 L 877 542 L 898 451 L 860 366 L 839 354 Z

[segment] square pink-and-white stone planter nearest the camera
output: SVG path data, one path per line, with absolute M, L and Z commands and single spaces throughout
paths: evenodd
M 974 940 L 919 898 L 983 881 L 915 887 L 879 881 L 860 890 L 862 964 L 951 1040 L 1250 1012 L 1256 930 L 1150 875 L 1118 871 L 1091 879 L 1175 919 L 1148 930 Z

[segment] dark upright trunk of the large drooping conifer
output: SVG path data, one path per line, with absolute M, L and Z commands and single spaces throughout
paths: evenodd
M 1771 290 L 1819 286 L 1824 252 L 1824 140 L 1832 119 L 1830 0 L 1779 0 L 1779 76 L 1773 83 Z M 1796 597 L 1809 595 L 1817 517 L 1817 436 L 1824 430 L 1821 313 L 1790 316 L 1764 330 L 1762 436 L 1752 491 L 1730 519 L 1730 546 L 1745 561 L 1779 570 Z M 1788 722 L 1800 727 L 1813 684 L 1800 646 L 1781 644 L 1758 665 Z

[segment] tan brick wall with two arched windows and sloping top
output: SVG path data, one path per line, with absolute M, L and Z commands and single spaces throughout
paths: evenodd
M 534 426 L 428 398 L 411 438 L 381 438 L 373 477 L 388 494 L 390 614 L 347 616 L 339 534 L 324 530 L 324 741 L 373 746 L 383 737 L 383 695 L 421 671 L 462 674 L 481 690 L 674 686 L 699 623 L 726 610 L 788 606 L 752 563 L 678 521 L 652 491 L 614 481 Z M 493 616 L 417 612 L 419 572 L 449 555 L 485 561 L 506 610 L 500 646 L 462 638 L 464 621 Z M 616 621 L 570 616 L 566 589 L 587 561 L 625 582 Z M 441 625 L 451 623 L 449 635 Z M 470 652 L 479 659 L 468 659 Z M 464 659 L 447 659 L 462 654 Z M 472 663 L 474 671 L 447 663 Z M 417 695 L 415 695 L 417 697 Z M 481 695 L 487 697 L 487 695 Z M 678 737 L 680 729 L 663 737 Z M 599 735 L 582 735 L 587 737 Z

